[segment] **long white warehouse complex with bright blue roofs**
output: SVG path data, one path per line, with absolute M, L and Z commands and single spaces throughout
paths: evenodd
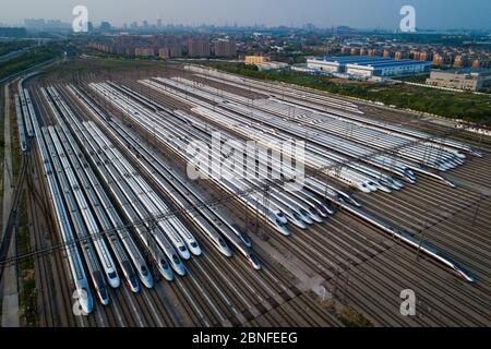
M 396 77 L 428 73 L 432 63 L 410 59 L 382 57 L 323 57 L 307 61 L 308 68 L 315 72 L 348 74 L 355 77 Z

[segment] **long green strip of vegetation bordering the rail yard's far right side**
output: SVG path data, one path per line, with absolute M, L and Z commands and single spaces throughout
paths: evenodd
M 350 81 L 340 83 L 339 80 L 333 81 L 333 79 L 327 76 L 290 71 L 260 72 L 255 67 L 248 67 L 240 63 L 205 63 L 218 70 L 253 79 L 284 82 L 337 95 L 380 101 L 387 106 L 396 106 L 402 109 L 412 109 L 448 119 L 463 119 L 469 122 L 491 125 L 491 96 L 446 92 L 406 84 L 356 84 Z

